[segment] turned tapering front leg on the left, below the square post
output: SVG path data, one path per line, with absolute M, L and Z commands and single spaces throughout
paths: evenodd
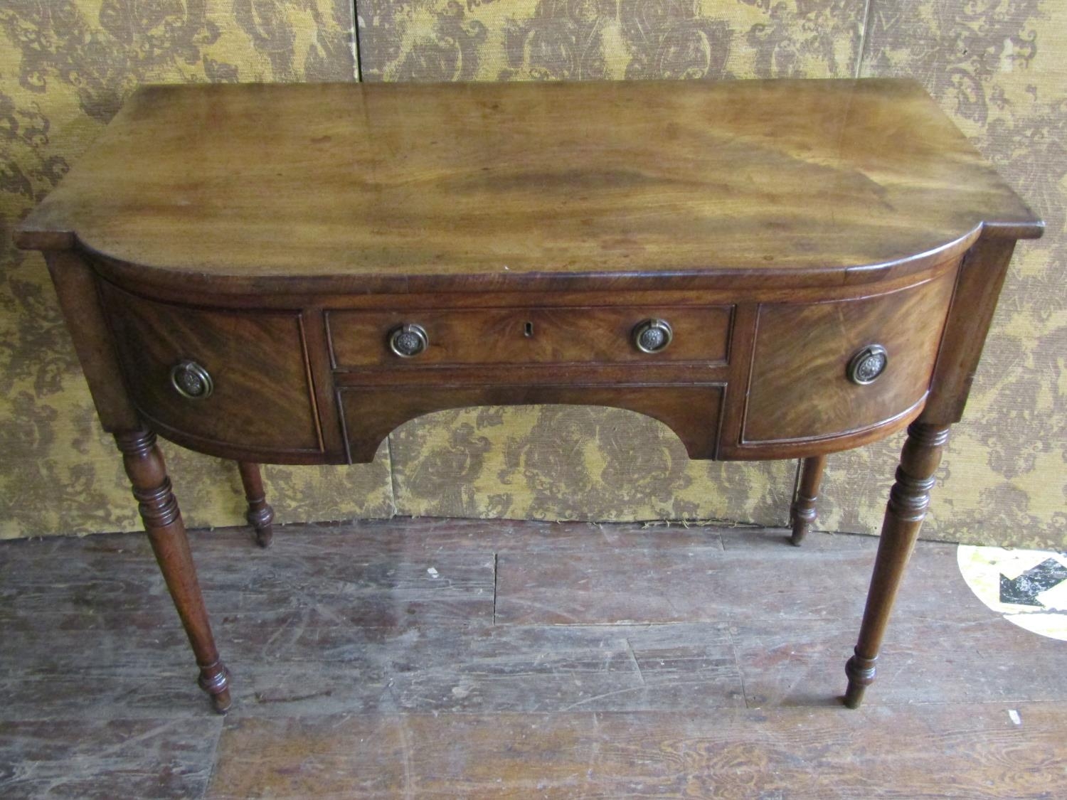
M 140 502 L 141 518 L 156 561 L 196 656 L 200 686 L 210 695 L 214 709 L 225 714 L 229 708 L 229 673 L 219 660 L 186 539 L 186 526 L 171 491 L 163 455 L 156 447 L 156 434 L 143 430 L 126 431 L 116 433 L 115 442 L 123 452 L 133 496 Z

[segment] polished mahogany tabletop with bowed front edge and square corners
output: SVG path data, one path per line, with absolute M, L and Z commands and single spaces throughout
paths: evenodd
M 16 241 L 171 281 L 520 288 L 885 272 L 982 230 L 1041 222 L 908 80 L 201 84 L 136 92 Z

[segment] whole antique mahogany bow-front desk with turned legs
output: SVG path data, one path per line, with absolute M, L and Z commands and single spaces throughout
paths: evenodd
M 1015 242 L 1042 223 L 905 80 L 137 91 L 17 231 L 45 253 L 214 707 L 229 705 L 159 434 L 370 461 L 441 409 L 578 403 L 694 459 L 905 427 L 856 707 Z M 694 575 L 694 580 L 701 576 Z

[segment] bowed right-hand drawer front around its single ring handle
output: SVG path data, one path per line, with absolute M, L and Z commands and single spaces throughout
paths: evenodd
M 744 444 L 817 439 L 890 420 L 929 387 L 955 282 L 950 271 L 861 300 L 760 308 Z M 885 350 L 870 383 L 849 375 L 867 348 Z

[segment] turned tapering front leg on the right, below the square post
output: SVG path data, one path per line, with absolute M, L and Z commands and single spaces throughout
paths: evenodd
M 896 468 L 896 481 L 890 490 L 886 507 L 859 642 L 855 655 L 845 665 L 848 676 L 845 705 L 849 708 L 859 708 L 864 690 L 874 683 L 878 649 L 886 634 L 904 567 L 926 516 L 934 471 L 941 463 L 941 451 L 947 441 L 946 425 L 912 422 L 908 427 L 901 465 Z

